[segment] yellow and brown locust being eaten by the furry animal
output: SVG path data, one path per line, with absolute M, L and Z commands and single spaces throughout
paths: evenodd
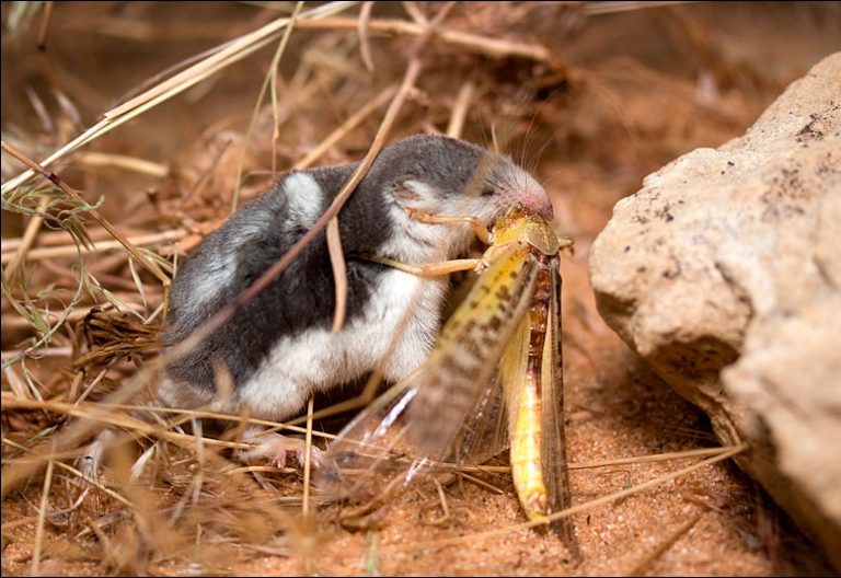
M 376 495 L 445 460 L 481 463 L 510 447 L 526 516 L 539 520 L 569 506 L 558 266 L 573 241 L 520 205 L 495 222 L 488 241 L 479 280 L 427 361 L 331 444 L 316 478 L 329 495 Z M 401 268 L 429 274 L 435 266 Z M 552 530 L 578 557 L 568 520 Z

